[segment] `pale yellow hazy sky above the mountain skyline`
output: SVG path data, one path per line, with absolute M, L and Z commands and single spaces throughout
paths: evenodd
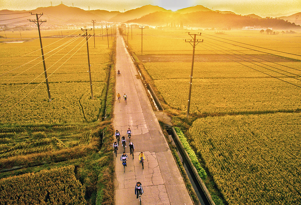
M 212 10 L 233 11 L 237 14 L 285 14 L 301 12 L 301 0 L 0 0 L 0 10 L 31 10 L 61 4 L 88 10 L 108 11 L 130 10 L 143 5 L 157 5 L 173 11 L 195 5 L 203 5 Z

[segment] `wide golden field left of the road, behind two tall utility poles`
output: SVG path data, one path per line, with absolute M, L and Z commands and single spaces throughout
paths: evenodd
M 33 31 L 28 32 L 23 35 L 23 38 L 24 36 L 31 38 L 32 33 Z M 45 33 L 46 36 L 54 35 L 50 31 L 42 31 L 42 33 Z M 82 31 L 63 32 L 64 35 L 72 33 L 78 35 Z M 37 37 L 37 32 L 35 37 Z M 51 102 L 48 102 L 47 88 L 43 82 L 45 74 L 39 39 L 27 39 L 23 43 L 0 44 L 1 50 L 5 51 L 0 53 L 0 89 L 2 90 L 0 92 L 0 115 L 32 91 L 8 111 L 2 117 L 1 122 L 96 121 L 101 108 L 101 93 L 105 84 L 107 63 L 110 62 L 111 49 L 108 49 L 107 41 L 96 37 L 96 48 L 94 49 L 93 37 L 89 40 L 94 100 L 91 99 L 89 73 L 87 72 L 88 57 L 85 38 L 43 38 L 42 41 Z M 112 47 L 113 41 L 111 39 L 109 41 L 110 47 Z M 40 83 L 42 84 L 38 86 Z

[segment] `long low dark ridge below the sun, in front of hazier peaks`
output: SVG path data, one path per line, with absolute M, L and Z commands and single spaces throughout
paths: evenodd
M 218 28 L 218 29 L 242 29 L 244 26 L 272 27 L 273 29 L 301 29 L 290 22 L 274 18 L 251 18 L 237 14 L 222 14 L 216 11 L 198 11 L 194 13 L 180 14 L 177 12 L 154 12 L 139 19 L 130 20 L 127 23 L 148 24 L 152 26 L 166 26 L 166 24 L 185 27 Z

